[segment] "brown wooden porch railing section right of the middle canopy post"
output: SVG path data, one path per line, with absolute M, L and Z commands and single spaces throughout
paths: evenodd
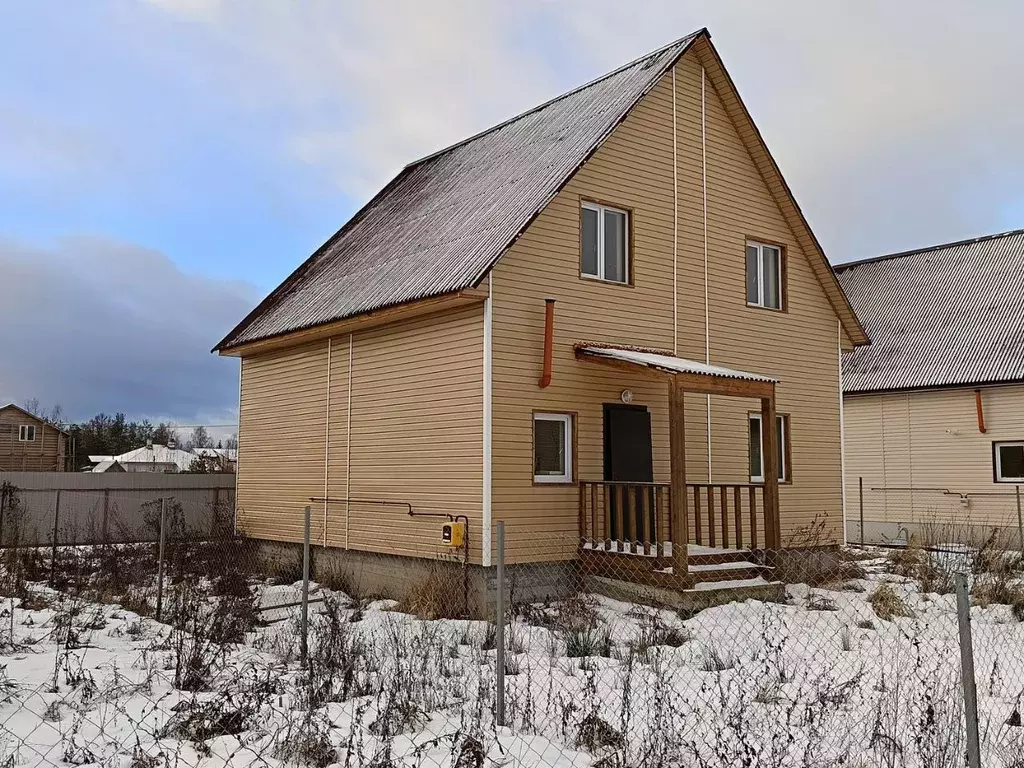
M 767 546 L 764 485 L 750 482 L 690 482 L 692 541 L 722 549 Z

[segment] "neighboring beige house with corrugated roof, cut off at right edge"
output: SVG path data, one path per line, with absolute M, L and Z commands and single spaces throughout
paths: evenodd
M 861 486 L 869 541 L 1016 529 L 1024 230 L 837 270 L 871 337 L 843 366 L 850 540 L 860 539 Z

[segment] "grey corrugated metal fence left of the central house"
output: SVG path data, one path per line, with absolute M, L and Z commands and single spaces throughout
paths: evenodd
M 0 472 L 0 546 L 156 541 L 167 499 L 197 536 L 229 526 L 233 474 Z

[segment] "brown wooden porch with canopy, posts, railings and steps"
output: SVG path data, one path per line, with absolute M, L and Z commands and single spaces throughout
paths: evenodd
M 755 553 L 780 546 L 774 429 L 762 429 L 764 482 L 688 482 L 687 392 L 760 402 L 762 424 L 775 424 L 775 381 L 625 347 L 578 345 L 577 357 L 666 379 L 670 482 L 582 480 L 580 558 L 587 572 L 672 589 L 737 582 L 764 573 Z

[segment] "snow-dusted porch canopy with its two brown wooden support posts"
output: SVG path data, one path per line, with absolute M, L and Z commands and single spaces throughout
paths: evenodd
M 673 541 L 689 541 L 689 512 L 686 495 L 686 425 L 683 398 L 685 392 L 715 394 L 729 397 L 751 397 L 761 400 L 761 423 L 775 423 L 775 385 L 778 380 L 762 374 L 737 371 L 721 366 L 677 357 L 656 349 L 610 346 L 592 343 L 575 345 L 577 359 L 637 373 L 660 374 L 669 383 L 669 445 L 672 465 L 672 526 Z M 778 525 L 778 460 L 775 430 L 761 430 L 764 461 L 764 515 L 766 544 L 769 549 L 780 546 Z M 686 547 L 674 546 L 673 559 L 681 572 L 686 572 Z M 677 554 L 678 552 L 678 554 Z

